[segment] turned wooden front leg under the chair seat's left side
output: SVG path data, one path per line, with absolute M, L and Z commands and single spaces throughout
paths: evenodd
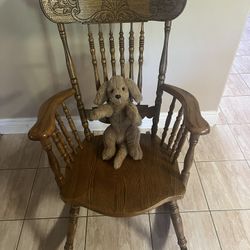
M 64 250 L 73 250 L 79 211 L 80 207 L 71 206 L 70 208 L 67 241 L 65 243 Z

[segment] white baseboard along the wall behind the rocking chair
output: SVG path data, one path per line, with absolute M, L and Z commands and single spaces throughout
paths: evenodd
M 207 120 L 210 126 L 214 126 L 217 121 L 217 111 L 202 112 L 202 116 Z M 163 128 L 167 113 L 161 113 L 158 127 Z M 73 117 L 77 129 L 82 130 L 79 117 Z M 36 118 L 14 118 L 14 119 L 0 119 L 0 134 L 25 134 L 35 124 Z M 103 131 L 107 127 L 99 121 L 90 122 L 90 129 L 93 131 Z M 152 119 L 143 119 L 141 130 L 150 130 L 152 126 Z

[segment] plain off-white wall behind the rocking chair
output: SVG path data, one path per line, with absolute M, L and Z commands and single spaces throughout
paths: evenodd
M 249 10 L 248 0 L 189 0 L 173 23 L 166 82 L 192 92 L 203 111 L 216 111 Z M 153 104 L 162 25 L 146 25 L 144 102 Z M 94 98 L 93 72 L 82 27 L 69 29 L 84 100 Z M 66 88 L 67 72 L 56 26 L 38 0 L 0 0 L 0 119 L 36 116 L 39 105 Z M 85 49 L 85 50 L 84 50 Z M 77 51 L 79 53 L 77 54 Z M 163 109 L 163 111 L 166 111 Z

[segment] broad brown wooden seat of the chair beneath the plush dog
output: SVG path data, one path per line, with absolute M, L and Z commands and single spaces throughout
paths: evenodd
M 133 216 L 165 202 L 183 197 L 178 163 L 171 164 L 160 139 L 141 135 L 143 159 L 127 156 L 120 169 L 113 168 L 113 159 L 103 161 L 102 136 L 83 142 L 65 173 L 61 189 L 66 203 L 81 205 L 109 216 Z

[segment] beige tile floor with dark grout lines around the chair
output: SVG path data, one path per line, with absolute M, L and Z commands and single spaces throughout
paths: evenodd
M 190 250 L 250 249 L 250 18 L 221 100 L 218 124 L 201 138 L 180 202 Z M 0 249 L 63 249 L 68 207 L 39 144 L 0 138 Z M 179 249 L 165 206 L 114 219 L 82 209 L 76 250 Z

